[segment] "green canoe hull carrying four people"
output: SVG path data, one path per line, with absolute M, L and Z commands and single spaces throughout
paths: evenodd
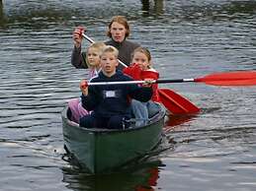
M 161 140 L 166 109 L 159 111 L 145 126 L 126 130 L 86 129 L 70 121 L 68 108 L 61 113 L 64 147 L 90 173 L 102 173 L 148 154 Z

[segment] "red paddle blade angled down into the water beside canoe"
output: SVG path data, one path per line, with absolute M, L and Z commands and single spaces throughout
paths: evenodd
M 200 111 L 200 108 L 187 98 L 180 96 L 169 89 L 158 89 L 158 94 L 164 106 L 174 115 L 193 114 Z

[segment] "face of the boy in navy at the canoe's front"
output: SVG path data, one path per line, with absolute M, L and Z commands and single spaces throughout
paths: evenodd
M 118 58 L 113 52 L 105 52 L 101 56 L 101 67 L 102 71 L 108 75 L 112 76 L 116 73 L 116 68 L 119 65 Z

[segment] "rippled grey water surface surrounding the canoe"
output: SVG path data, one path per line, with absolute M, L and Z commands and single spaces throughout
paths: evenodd
M 146 2 L 2 1 L 0 190 L 256 189 L 255 87 L 161 85 L 203 111 L 168 121 L 161 147 L 169 149 L 150 164 L 91 176 L 62 159 L 60 111 L 86 73 L 70 64 L 75 26 L 104 40 L 111 17 L 127 16 L 130 39 L 151 50 L 162 78 L 256 70 L 256 1 Z

